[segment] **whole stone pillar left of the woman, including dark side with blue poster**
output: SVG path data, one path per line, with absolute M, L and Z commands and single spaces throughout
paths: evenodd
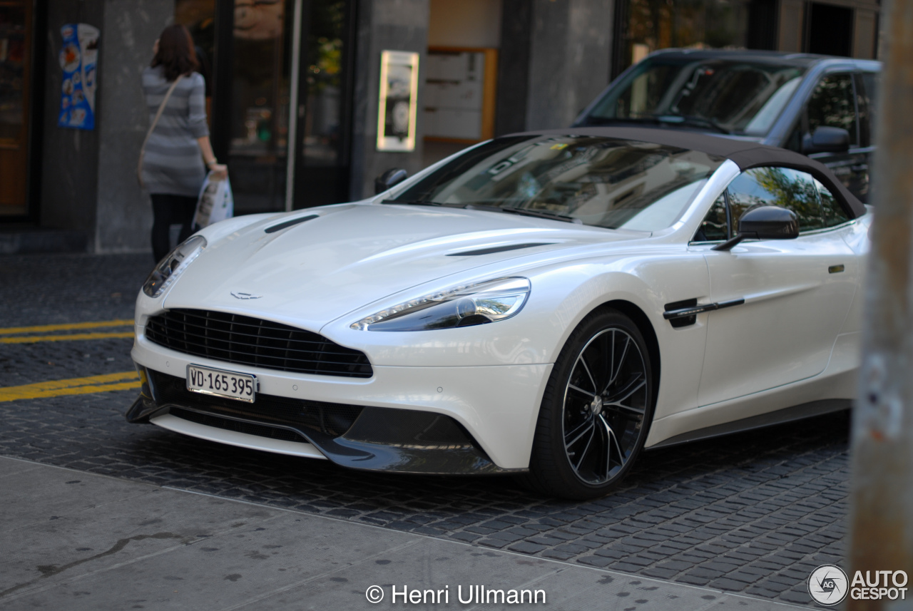
M 136 180 L 136 162 L 149 128 L 142 68 L 152 43 L 173 22 L 173 0 L 51 0 L 47 3 L 44 133 L 40 223 L 75 230 L 89 251 L 150 249 L 152 208 Z M 87 23 L 100 29 L 95 129 L 57 125 L 62 72 L 60 27 Z

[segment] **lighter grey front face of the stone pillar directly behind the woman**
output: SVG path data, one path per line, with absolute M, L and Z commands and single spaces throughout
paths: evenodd
M 173 23 L 173 0 L 106 0 L 99 57 L 98 208 L 95 251 L 147 251 L 152 205 L 136 179 L 149 112 L 142 95 L 142 68 L 152 44 Z

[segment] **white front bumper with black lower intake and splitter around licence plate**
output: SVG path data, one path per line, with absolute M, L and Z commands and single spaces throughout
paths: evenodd
M 231 445 L 345 467 L 415 473 L 496 473 L 529 466 L 551 365 L 375 367 L 334 378 L 184 355 L 138 336 L 133 360 L 147 380 L 132 422 Z M 257 403 L 185 388 L 189 364 L 257 377 Z M 260 407 L 257 407 L 257 404 Z

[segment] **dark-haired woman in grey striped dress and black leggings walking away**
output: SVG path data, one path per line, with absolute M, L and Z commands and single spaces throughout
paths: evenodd
M 226 176 L 227 169 L 216 161 L 209 142 L 205 81 L 195 72 L 199 65 L 190 32 L 180 25 L 166 27 L 152 53 L 152 65 L 142 71 L 142 89 L 154 128 L 142 152 L 141 175 L 152 196 L 152 254 L 159 261 L 168 254 L 172 224 L 182 225 L 178 243 L 190 236 L 206 169 L 214 178 Z

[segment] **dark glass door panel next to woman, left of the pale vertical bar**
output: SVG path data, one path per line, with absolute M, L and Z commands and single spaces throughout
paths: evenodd
M 303 0 L 176 0 L 206 78 L 216 156 L 235 213 L 285 210 L 294 6 Z M 2 0 L 0 0 L 2 2 Z

